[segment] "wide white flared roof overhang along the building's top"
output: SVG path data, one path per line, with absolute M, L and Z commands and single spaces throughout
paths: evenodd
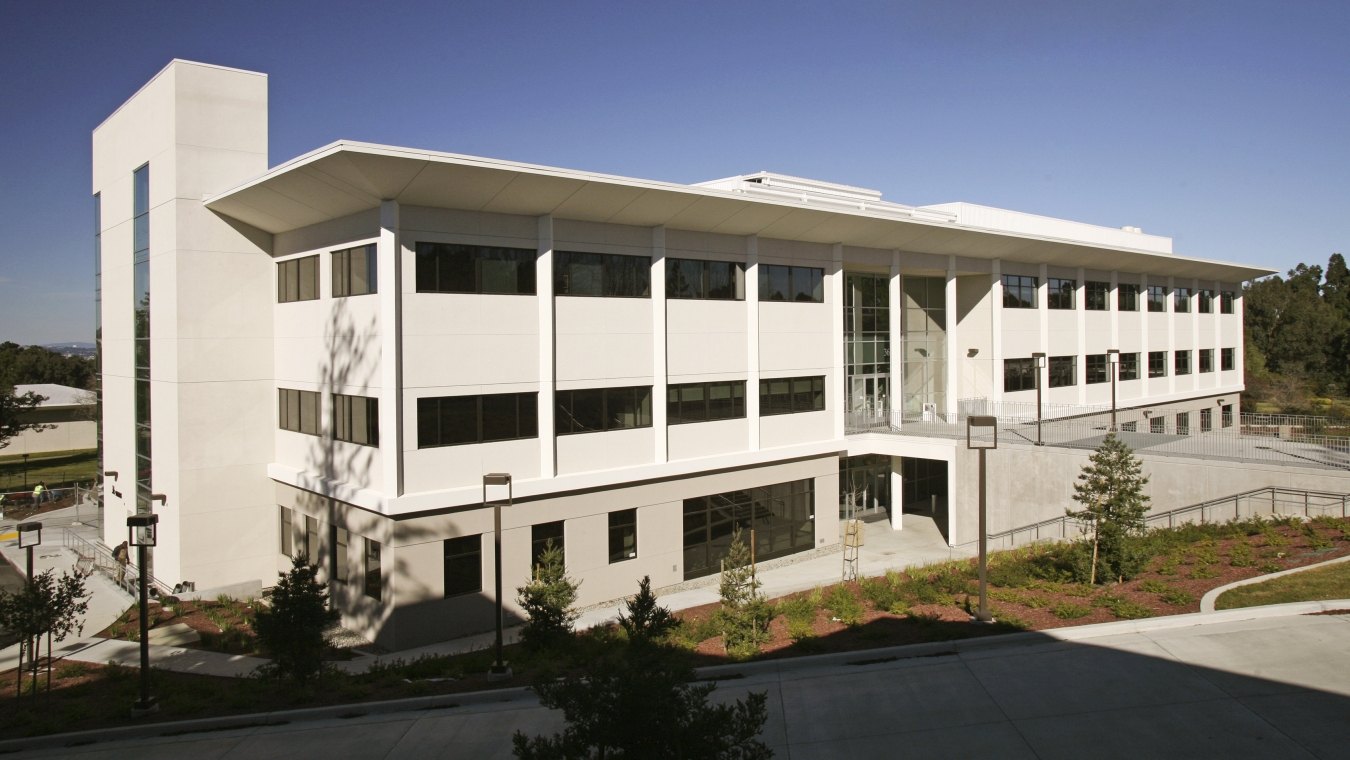
M 848 208 L 810 197 L 763 198 L 699 185 L 352 142 L 297 157 L 204 202 L 224 216 L 282 234 L 378 208 L 389 200 L 1224 282 L 1273 274 L 1239 263 L 981 229 L 899 204 L 859 202 Z

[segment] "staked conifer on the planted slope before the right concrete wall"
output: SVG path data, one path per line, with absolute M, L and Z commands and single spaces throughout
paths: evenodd
M 1149 479 L 1142 470 L 1134 451 L 1115 433 L 1107 433 L 1073 483 L 1073 501 L 1083 509 L 1066 513 L 1085 522 L 1084 532 L 1091 533 L 1088 583 L 1096 583 L 1099 576 L 1125 580 L 1143 567 L 1138 537 L 1149 512 L 1149 497 L 1143 493 Z

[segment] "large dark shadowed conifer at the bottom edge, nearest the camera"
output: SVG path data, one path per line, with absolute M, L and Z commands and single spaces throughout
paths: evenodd
M 563 711 L 567 728 L 555 736 L 533 738 L 516 732 L 517 757 L 757 760 L 772 756 L 759 741 L 768 718 L 765 694 L 748 694 L 732 705 L 710 705 L 707 698 L 717 684 L 690 683 L 694 671 L 680 653 L 651 637 L 659 628 L 655 622 L 671 616 L 655 603 L 649 583 L 643 579 L 637 595 L 626 603 L 628 614 L 621 616 L 643 632 L 629 645 L 616 644 L 603 656 L 591 659 L 585 672 L 547 679 L 533 687 L 541 705 Z

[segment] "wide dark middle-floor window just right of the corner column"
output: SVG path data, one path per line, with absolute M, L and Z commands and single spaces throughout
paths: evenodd
M 417 400 L 417 448 L 532 439 L 537 435 L 537 393 Z

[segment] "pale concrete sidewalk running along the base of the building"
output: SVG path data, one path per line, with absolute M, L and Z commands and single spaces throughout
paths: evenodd
M 85 521 L 92 520 L 90 508 L 82 508 L 81 514 Z M 97 526 L 84 524 L 76 525 L 76 508 L 50 512 L 40 516 L 43 524 L 42 545 L 34 552 L 34 571 L 43 572 L 53 570 L 57 575 L 73 571 L 76 555 L 63 547 L 65 532 L 70 531 L 85 540 L 99 543 L 101 535 Z M 0 522 L 0 552 L 4 553 L 20 572 L 24 570 L 27 555 L 19 548 L 18 536 L 14 532 L 15 521 Z M 921 516 L 905 516 L 905 529 L 891 531 L 888 522 L 873 522 L 865 526 L 864 544 L 859 551 L 857 574 L 859 578 L 880 575 L 887 570 L 902 570 L 917 564 L 945 562 L 948 559 L 972 556 L 969 551 L 953 549 L 946 545 L 933 520 Z M 764 595 L 774 598 L 794 591 L 803 591 L 817 586 L 836 583 L 842 575 L 842 553 L 829 552 L 822 556 L 801 559 L 786 564 L 779 564 L 759 572 Z M 94 572 L 85 582 L 92 593 L 89 610 L 84 616 L 84 636 L 68 639 L 53 647 L 54 656 L 85 663 L 116 661 L 124 666 L 139 667 L 140 648 L 135 641 L 117 641 L 99 639 L 94 633 L 112 625 L 123 612 L 135 603 L 135 597 L 127 594 L 112 579 Z M 636 589 L 634 589 L 636 591 Z M 702 585 L 694 589 L 660 595 L 660 602 L 671 610 L 682 610 L 707 605 L 718 601 L 717 576 L 702 579 Z M 622 601 L 602 605 L 585 610 L 576 621 L 578 628 L 593 628 L 618 618 L 622 610 Z M 516 643 L 520 628 L 509 628 L 504 632 L 506 644 Z M 364 672 L 371 666 L 387 660 L 416 660 L 418 657 L 458 655 L 463 652 L 482 651 L 493 645 L 494 632 L 489 630 L 473 636 L 464 636 L 450 641 L 440 641 L 427 647 L 404 649 L 386 655 L 367 655 L 347 661 L 335 663 L 335 667 L 347 672 Z M 18 666 L 19 647 L 0 649 L 0 670 Z M 258 666 L 266 663 L 262 657 L 246 657 L 239 655 L 223 655 L 184 647 L 150 647 L 150 663 L 155 668 L 190 672 L 216 676 L 246 676 Z

